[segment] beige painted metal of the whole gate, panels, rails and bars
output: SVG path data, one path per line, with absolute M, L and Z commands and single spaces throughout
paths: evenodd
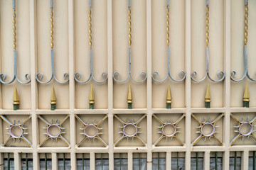
M 166 153 L 166 169 L 171 169 L 173 152 L 185 152 L 186 169 L 191 166 L 191 152 L 204 152 L 204 169 L 209 169 L 210 152 L 223 152 L 223 169 L 229 169 L 230 151 L 242 152 L 242 169 L 248 169 L 249 152 L 256 150 L 255 141 L 248 141 L 248 145 L 233 145 L 230 147 L 233 129 L 230 113 L 241 114 L 246 117 L 256 112 L 255 83 L 230 81 L 230 71 L 238 71 L 238 77 L 243 74 L 242 42 L 244 1 L 240 0 L 210 0 L 210 74 L 217 79 L 216 73 L 224 70 L 226 78 L 224 83 L 212 83 L 208 80 L 202 83 L 191 82 L 190 72 L 198 71 L 198 77 L 206 72 L 205 50 L 205 12 L 206 1 L 201 0 L 170 0 L 170 48 L 171 48 L 171 74 L 178 79 L 177 73 L 185 70 L 187 78 L 184 82 L 174 83 L 169 79 L 162 84 L 152 81 L 151 72 L 159 71 L 159 79 L 166 75 L 166 0 L 132 0 L 132 75 L 139 79 L 139 72 L 146 71 L 146 83 L 134 84 L 132 82 L 118 84 L 112 80 L 113 72 L 120 72 L 120 79 L 128 73 L 127 60 L 127 1 L 125 0 L 93 0 L 92 4 L 92 30 L 93 30 L 93 69 L 97 79 L 100 73 L 108 72 L 109 79 L 105 84 L 78 84 L 73 79 L 75 72 L 82 74 L 82 79 L 89 75 L 89 46 L 88 46 L 88 1 L 83 0 L 54 0 L 55 8 L 55 72 L 58 79 L 63 79 L 63 73 L 69 72 L 70 82 L 62 85 L 52 81 L 50 84 L 38 84 L 35 79 L 37 72 L 43 72 L 48 79 L 50 75 L 50 38 L 49 38 L 49 3 L 42 0 L 17 0 L 17 52 L 18 76 L 31 74 L 31 84 L 0 84 L 0 114 L 10 118 L 31 115 L 32 129 L 28 137 L 33 147 L 0 147 L 0 164 L 3 164 L 6 152 L 14 153 L 16 169 L 21 169 L 21 152 L 33 154 L 33 167 L 39 169 L 39 153 L 51 153 L 53 169 L 58 169 L 58 154 L 70 153 L 72 169 L 76 169 L 77 153 L 90 153 L 90 169 L 95 169 L 95 154 L 108 153 L 110 169 L 114 169 L 114 153 L 127 153 L 128 169 L 132 169 L 133 153 L 144 152 L 147 157 L 147 169 L 152 169 L 153 152 Z M 256 68 L 256 1 L 249 1 L 249 29 L 248 29 L 248 57 L 250 74 L 254 75 Z M 12 57 L 12 13 L 11 1 L 0 0 L 0 52 L 1 72 L 13 75 Z M 22 59 L 22 60 L 21 60 Z M 232 60 L 231 60 L 232 59 Z M 242 108 L 242 94 L 248 82 L 250 89 L 251 108 Z M 211 106 L 204 107 L 204 95 L 207 84 L 210 84 Z M 89 110 L 88 98 L 90 84 L 95 91 L 95 110 Z M 134 109 L 127 108 L 127 90 L 132 86 Z M 167 86 L 171 86 L 173 98 L 172 109 L 166 110 L 165 96 Z M 17 86 L 21 99 L 21 110 L 12 111 L 12 95 L 14 86 Z M 50 92 L 55 86 L 57 95 L 57 110 L 50 111 Z M 191 147 L 191 142 L 197 137 L 191 131 L 196 124 L 191 113 L 198 118 L 224 113 L 221 120 L 219 137 L 223 146 L 213 143 L 211 146 L 199 145 Z M 77 147 L 79 127 L 75 115 L 100 117 L 107 114 L 105 135 L 107 147 Z M 141 126 L 144 128 L 143 139 L 147 146 L 133 142 L 132 147 L 123 143 L 122 147 L 114 147 L 117 130 L 117 120 L 114 114 L 120 116 L 132 115 L 138 117 L 146 114 Z M 157 122 L 153 114 L 162 118 L 178 118 L 185 114 L 182 123 L 181 139 L 185 146 L 173 140 L 173 145 L 164 144 L 153 146 L 157 136 Z M 69 123 L 65 127 L 68 132 L 70 147 L 38 147 L 42 133 L 45 132 L 38 120 L 38 115 L 60 118 L 69 115 Z M 156 125 L 156 126 L 153 126 Z M 5 124 L 0 121 L 0 127 Z M 0 142 L 6 139 L 4 130 L 0 130 Z M 136 146 L 139 144 L 139 147 Z M 46 144 L 51 146 L 49 142 Z M 55 144 L 58 146 L 58 144 Z M 3 169 L 3 166 L 0 166 Z

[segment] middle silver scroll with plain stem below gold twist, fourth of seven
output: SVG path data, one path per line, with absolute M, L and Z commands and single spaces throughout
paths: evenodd
M 132 77 L 132 73 L 131 73 L 131 65 L 132 65 L 132 62 L 131 62 L 131 48 L 129 47 L 129 74 L 128 74 L 128 77 L 126 79 L 124 79 L 123 81 L 119 81 L 119 72 L 114 72 L 113 74 L 113 79 L 114 81 L 117 81 L 118 83 L 124 83 L 125 81 L 127 81 L 129 79 L 129 77 L 131 77 L 132 81 L 136 82 L 136 83 L 142 83 L 146 80 L 146 77 L 147 77 L 147 74 L 146 72 L 141 72 L 139 74 L 139 77 L 142 79 L 141 81 L 137 81 L 135 80 L 133 77 Z M 143 78 L 143 75 L 144 75 L 144 78 Z M 115 76 L 117 76 L 117 79 L 115 78 Z

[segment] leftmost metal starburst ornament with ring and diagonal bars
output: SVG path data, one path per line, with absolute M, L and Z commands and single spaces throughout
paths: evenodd
M 11 139 L 13 139 L 14 142 L 16 142 L 16 140 L 18 140 L 18 142 L 24 140 L 30 147 L 32 147 L 31 142 L 25 137 L 25 135 L 28 135 L 28 132 L 25 132 L 27 128 L 23 127 L 31 116 L 29 116 L 23 123 L 20 123 L 19 120 L 18 123 L 16 123 L 16 120 L 14 120 L 14 123 L 11 123 L 6 117 L 4 117 L 4 115 L 0 115 L 0 117 L 9 125 L 9 128 L 6 128 L 9 130 L 9 132 L 6 133 L 9 135 L 9 138 L 6 140 L 6 142 L 4 142 L 2 147 L 4 147 Z

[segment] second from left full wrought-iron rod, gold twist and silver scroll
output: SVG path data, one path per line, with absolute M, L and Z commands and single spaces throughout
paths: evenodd
M 65 84 L 69 81 L 69 74 L 65 73 L 63 74 L 64 81 L 59 81 L 55 77 L 55 69 L 54 69 L 54 50 L 53 50 L 53 0 L 50 0 L 50 57 L 51 57 L 51 69 L 52 69 L 52 74 L 51 77 L 48 81 L 41 81 L 43 79 L 43 73 L 38 72 L 36 74 L 36 80 L 41 83 L 41 84 L 48 84 L 50 81 L 55 79 L 59 84 Z

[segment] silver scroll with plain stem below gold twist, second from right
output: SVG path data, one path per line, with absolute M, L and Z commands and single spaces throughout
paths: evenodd
M 209 59 L 209 47 L 206 47 L 206 76 L 205 77 L 203 77 L 203 79 L 201 79 L 201 80 L 196 80 L 196 77 L 197 77 L 197 75 L 198 75 L 198 73 L 196 72 L 196 71 L 192 71 L 191 72 L 191 79 L 193 80 L 193 81 L 196 81 L 196 82 L 201 82 L 201 81 L 203 81 L 203 80 L 205 80 L 206 79 L 206 77 L 208 77 L 211 81 L 213 81 L 213 82 L 220 82 L 220 81 L 223 81 L 223 79 L 225 79 L 225 72 L 223 72 L 223 71 L 219 71 L 218 73 L 217 73 L 217 75 L 218 75 L 218 80 L 215 80 L 215 79 L 212 79 L 211 77 L 210 77 L 210 71 L 209 71 L 209 61 L 210 59 Z M 221 76 L 222 75 L 222 76 Z

